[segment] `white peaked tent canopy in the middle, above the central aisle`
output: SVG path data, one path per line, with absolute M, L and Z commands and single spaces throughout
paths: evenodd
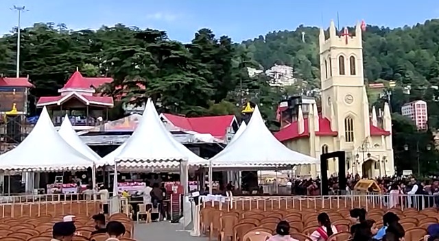
M 148 99 L 139 126 L 115 157 L 117 166 L 171 168 L 180 166 L 180 161 L 190 166 L 209 165 L 208 160 L 174 139 L 158 117 L 151 99 Z

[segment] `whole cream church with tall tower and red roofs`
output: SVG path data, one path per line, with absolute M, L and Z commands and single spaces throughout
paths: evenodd
M 346 33 L 347 29 L 345 30 Z M 274 136 L 287 147 L 312 157 L 345 151 L 347 173 L 378 177 L 394 174 L 392 118 L 384 106 L 382 124 L 370 112 L 364 85 L 361 26 L 337 36 L 331 22 L 329 38 L 320 29 L 321 112 L 316 103 L 298 104 L 298 112 Z M 278 116 L 287 111 L 281 106 Z M 307 115 L 305 111 L 307 110 Z M 328 175 L 337 174 L 337 160 L 328 162 Z M 316 176 L 320 166 L 298 166 L 298 175 Z

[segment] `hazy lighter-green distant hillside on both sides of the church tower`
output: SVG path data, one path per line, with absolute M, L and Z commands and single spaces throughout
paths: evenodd
M 305 42 L 302 42 L 302 31 Z M 353 33 L 354 29 L 350 29 Z M 299 26 L 294 31 L 275 31 L 244 42 L 249 58 L 264 68 L 273 64 L 293 66 L 298 77 L 318 86 L 317 27 Z M 429 102 L 430 124 L 439 128 L 439 20 L 426 21 L 414 27 L 389 29 L 368 25 L 363 34 L 364 74 L 368 83 L 396 81 L 392 90 L 392 110 L 414 99 Z M 411 93 L 403 94 L 403 86 Z M 375 100 L 371 100 L 373 103 Z M 377 103 L 382 106 L 381 101 Z

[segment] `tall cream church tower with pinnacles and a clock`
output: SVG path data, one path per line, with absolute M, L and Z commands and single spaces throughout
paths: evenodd
M 361 25 L 337 36 L 333 21 L 329 38 L 320 29 L 322 116 L 338 132 L 336 149 L 354 150 L 370 138 L 369 103 L 364 86 Z

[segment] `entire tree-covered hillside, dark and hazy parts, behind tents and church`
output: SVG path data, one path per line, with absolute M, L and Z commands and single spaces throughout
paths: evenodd
M 126 92 L 126 100 L 134 103 L 152 97 L 161 101 L 165 112 L 234 113 L 242 99 L 261 103 L 270 120 L 287 91 L 270 88 L 266 76 L 248 77 L 246 67 L 287 64 L 309 88 L 320 85 L 317 27 L 299 26 L 242 43 L 200 29 L 189 45 L 170 40 L 161 30 L 116 25 L 73 31 L 63 24 L 37 23 L 21 32 L 21 75 L 29 75 L 36 86 L 35 98 L 57 94 L 79 67 L 87 76 L 113 77 L 115 82 L 104 88 L 107 94 Z M 398 111 L 410 99 L 425 99 L 435 117 L 431 120 L 437 119 L 434 97 L 438 91 L 429 87 L 439 85 L 438 48 L 438 20 L 400 29 L 368 26 L 364 32 L 366 81 L 396 81 L 392 110 Z M 16 34 L 0 38 L 0 73 L 15 75 L 15 53 Z M 406 85 L 412 87 L 410 95 L 402 93 Z

